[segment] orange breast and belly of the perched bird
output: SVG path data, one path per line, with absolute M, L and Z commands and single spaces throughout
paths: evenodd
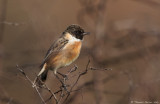
M 60 53 L 58 53 L 56 56 L 51 57 L 50 61 L 48 62 L 50 64 L 50 67 L 60 68 L 70 65 L 78 58 L 81 50 L 81 45 L 81 41 L 68 43 Z

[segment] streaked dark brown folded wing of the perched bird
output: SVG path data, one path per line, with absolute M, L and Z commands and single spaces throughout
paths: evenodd
M 57 54 L 67 43 L 68 40 L 62 36 L 57 41 L 55 41 L 47 51 L 47 54 L 40 67 L 42 68 L 44 63 L 49 59 L 49 57 L 53 54 Z

